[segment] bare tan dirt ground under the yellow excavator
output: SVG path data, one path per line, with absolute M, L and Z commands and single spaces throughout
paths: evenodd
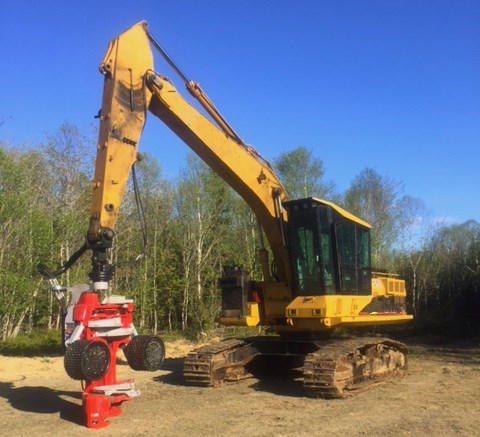
M 140 397 L 109 427 L 83 426 L 81 389 L 62 357 L 0 356 L 2 436 L 422 436 L 480 435 L 480 344 L 408 342 L 404 378 L 343 400 L 308 399 L 291 374 L 264 375 L 218 388 L 185 386 L 187 342 L 166 344 L 164 369 L 134 372 Z

